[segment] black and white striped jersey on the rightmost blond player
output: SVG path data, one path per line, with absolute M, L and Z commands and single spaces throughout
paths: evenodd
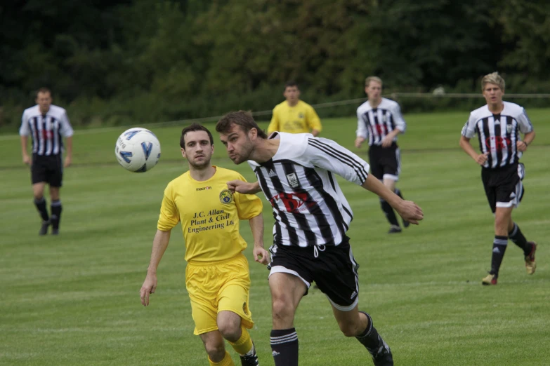
M 462 135 L 471 139 L 478 135 L 481 154 L 489 153 L 484 168 L 499 168 L 518 162 L 521 151 L 517 142 L 520 133 L 530 133 L 533 126 L 523 107 L 511 102 L 503 102 L 500 114 L 493 114 L 487 105 L 472 111 L 462 128 Z

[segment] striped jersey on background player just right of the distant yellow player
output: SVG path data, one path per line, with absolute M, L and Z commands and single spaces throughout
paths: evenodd
M 401 115 L 397 102 L 382 98 L 377 107 L 371 107 L 369 101 L 357 109 L 357 137 L 369 139 L 369 146 L 381 145 L 384 137 L 397 128 L 405 133 L 407 123 Z M 397 142 L 397 136 L 393 138 Z

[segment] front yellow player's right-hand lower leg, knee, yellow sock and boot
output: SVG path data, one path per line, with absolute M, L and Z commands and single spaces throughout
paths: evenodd
M 247 366 L 258 365 L 256 349 L 248 330 L 242 326 L 241 317 L 233 311 L 220 311 L 217 324 L 222 337 L 228 340 L 235 352 L 239 353 L 241 364 Z

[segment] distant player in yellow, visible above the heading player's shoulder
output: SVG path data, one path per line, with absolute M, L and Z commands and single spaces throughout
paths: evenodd
M 268 126 L 268 135 L 274 131 L 286 133 L 311 133 L 319 135 L 322 126 L 315 109 L 300 100 L 300 90 L 294 81 L 284 86 L 282 94 L 287 99 L 273 108 L 273 117 Z

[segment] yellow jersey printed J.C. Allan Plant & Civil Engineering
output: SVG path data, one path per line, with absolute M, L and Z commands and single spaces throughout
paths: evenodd
M 247 243 L 239 232 L 239 220 L 262 212 L 260 198 L 232 194 L 227 182 L 245 181 L 234 170 L 216 168 L 205 181 L 192 179 L 185 172 L 164 190 L 157 229 L 169 231 L 181 222 L 185 240 L 185 260 L 189 263 L 217 262 L 238 255 Z

